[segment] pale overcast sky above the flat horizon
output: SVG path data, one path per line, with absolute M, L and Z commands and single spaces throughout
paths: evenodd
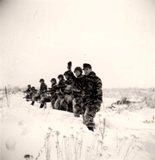
M 0 87 L 87 62 L 105 88 L 155 87 L 154 0 L 3 0 Z

